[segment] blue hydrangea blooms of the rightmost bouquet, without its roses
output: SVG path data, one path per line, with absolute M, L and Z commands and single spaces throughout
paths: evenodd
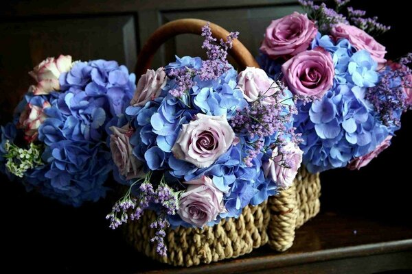
M 312 173 L 347 166 L 374 150 L 394 128 L 382 125 L 367 88 L 375 86 L 379 75 L 376 62 L 367 51 L 357 51 L 346 39 L 336 43 L 320 34 L 312 48 L 323 47 L 332 54 L 334 86 L 319 101 L 298 103 L 297 132 L 304 142 L 304 164 Z

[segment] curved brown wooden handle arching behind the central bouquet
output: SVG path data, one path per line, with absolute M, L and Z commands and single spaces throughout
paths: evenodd
M 137 77 L 140 77 L 140 75 L 146 73 L 146 70 L 150 68 L 153 55 L 155 55 L 157 49 L 159 49 L 163 42 L 166 42 L 170 38 L 173 38 L 179 34 L 201 35 L 202 27 L 206 25 L 206 23 L 207 21 L 204 20 L 187 18 L 174 20 L 159 27 L 159 29 L 157 29 L 152 36 L 150 36 L 139 53 L 135 68 Z M 227 32 L 226 29 L 214 23 L 210 23 L 209 26 L 214 38 L 217 38 L 218 40 L 220 40 L 220 38 L 226 40 L 226 37 L 229 35 L 229 32 Z M 240 69 L 244 69 L 247 66 L 259 67 L 258 63 L 255 61 L 255 58 L 253 58 L 253 55 L 238 39 L 233 40 L 233 47 L 229 49 L 229 53 L 241 67 Z

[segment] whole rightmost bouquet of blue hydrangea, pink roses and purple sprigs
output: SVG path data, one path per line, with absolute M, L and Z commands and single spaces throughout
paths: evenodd
M 300 3 L 308 15 L 272 21 L 258 61 L 294 95 L 317 98 L 299 100 L 294 121 L 308 170 L 360 169 L 389 147 L 402 112 L 411 109 L 412 55 L 385 60 L 385 47 L 371 34 L 389 27 L 345 8 L 347 0 L 335 0 L 334 9 Z

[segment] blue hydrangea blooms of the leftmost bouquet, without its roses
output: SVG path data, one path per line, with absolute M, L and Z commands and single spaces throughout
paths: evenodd
M 18 117 L 28 102 L 39 98 L 51 105 L 44 109 L 46 118 L 38 128 L 44 165 L 27 171 L 23 184 L 62 203 L 80 206 L 106 193 L 103 184 L 112 160 L 105 126 L 129 104 L 135 75 L 117 62 L 94 60 L 74 62 L 69 72 L 60 75 L 59 82 L 61 90 L 40 96 L 29 92 L 16 109 Z M 0 162 L 4 162 L 5 140 L 19 146 L 19 138 L 14 140 L 16 120 L 2 127 Z

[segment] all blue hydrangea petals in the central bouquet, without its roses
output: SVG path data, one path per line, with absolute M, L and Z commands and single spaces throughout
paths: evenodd
M 200 58 L 185 56 L 177 58 L 176 62 L 165 66 L 165 71 L 170 69 L 201 69 Z M 231 68 L 218 79 L 203 81 L 194 76 L 194 86 L 185 96 L 176 98 L 170 95 L 170 90 L 176 88 L 174 79 L 167 79 L 161 95 L 146 105 L 129 106 L 126 109 L 128 121 L 116 123 L 122 126 L 126 123 L 133 125 L 135 133 L 130 137 L 133 146 L 133 155 L 146 163 L 147 171 L 168 171 L 165 173 L 166 181 L 172 185 L 174 182 L 189 181 L 207 175 L 211 177 L 215 186 L 225 192 L 224 202 L 227 212 L 223 212 L 218 219 L 209 225 L 220 221 L 225 217 L 238 217 L 242 209 L 249 205 L 262 203 L 269 195 L 275 195 L 275 183 L 264 179 L 262 173 L 262 153 L 253 159 L 252 166 L 246 166 L 243 159 L 247 157 L 247 151 L 242 143 L 229 147 L 226 153 L 207 168 L 198 168 L 183 160 L 178 160 L 172 154 L 172 147 L 176 142 L 183 124 L 190 123 L 198 113 L 220 116 L 231 119 L 236 115 L 236 110 L 245 108 L 248 104 L 244 100 L 242 91 L 236 88 L 238 74 Z M 118 176 L 122 184 L 126 182 L 124 177 Z M 179 214 L 170 215 L 172 226 L 185 223 Z

